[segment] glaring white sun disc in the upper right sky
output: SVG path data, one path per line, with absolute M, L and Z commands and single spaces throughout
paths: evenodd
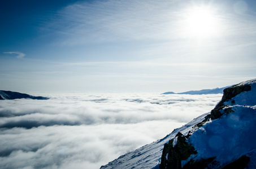
M 189 37 L 206 38 L 218 34 L 218 20 L 206 6 L 193 7 L 185 12 L 184 34 Z

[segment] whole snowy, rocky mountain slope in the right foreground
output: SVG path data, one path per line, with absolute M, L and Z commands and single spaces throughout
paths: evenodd
M 256 168 L 256 79 L 226 88 L 211 110 L 101 168 Z

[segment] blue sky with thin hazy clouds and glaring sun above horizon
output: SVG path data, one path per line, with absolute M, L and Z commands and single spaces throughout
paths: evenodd
M 255 1 L 3 1 L 0 88 L 183 92 L 256 77 Z

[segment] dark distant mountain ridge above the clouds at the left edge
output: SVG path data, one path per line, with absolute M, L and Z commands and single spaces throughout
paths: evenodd
M 19 92 L 0 90 L 0 100 L 14 100 L 14 99 L 36 99 L 47 100 L 48 97 L 32 96 L 28 94 L 22 94 Z

